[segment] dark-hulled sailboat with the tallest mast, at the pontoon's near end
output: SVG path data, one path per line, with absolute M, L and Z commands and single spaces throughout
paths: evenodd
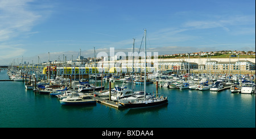
M 144 108 L 144 107 L 153 107 L 153 106 L 158 106 L 158 105 L 163 105 L 164 103 L 167 103 L 167 97 L 164 97 L 163 95 L 161 97 L 155 97 L 152 95 L 152 97 L 146 97 L 146 29 L 144 29 L 144 50 L 145 50 L 145 55 L 144 55 L 144 92 L 143 92 L 143 98 L 137 97 L 138 99 L 131 101 L 126 101 L 124 104 L 128 108 Z M 132 88 L 133 90 L 133 88 Z M 133 92 L 133 91 L 132 91 Z M 133 97 L 133 96 L 131 96 Z M 134 98 L 134 97 L 133 97 Z M 127 98 L 129 100 L 129 97 Z

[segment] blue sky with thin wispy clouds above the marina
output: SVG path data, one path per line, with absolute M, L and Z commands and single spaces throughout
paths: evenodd
M 0 64 L 130 51 L 145 28 L 159 54 L 255 51 L 255 1 L 0 0 Z

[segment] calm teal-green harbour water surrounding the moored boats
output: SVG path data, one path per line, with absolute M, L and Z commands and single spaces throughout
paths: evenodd
M 0 72 L 1 79 L 9 79 L 6 71 Z M 155 84 L 147 85 L 147 92 L 155 90 Z M 118 110 L 100 103 L 61 106 L 56 97 L 35 94 L 22 82 L 1 81 L 0 127 L 255 128 L 255 94 L 167 88 L 159 92 L 168 95 L 167 105 Z

